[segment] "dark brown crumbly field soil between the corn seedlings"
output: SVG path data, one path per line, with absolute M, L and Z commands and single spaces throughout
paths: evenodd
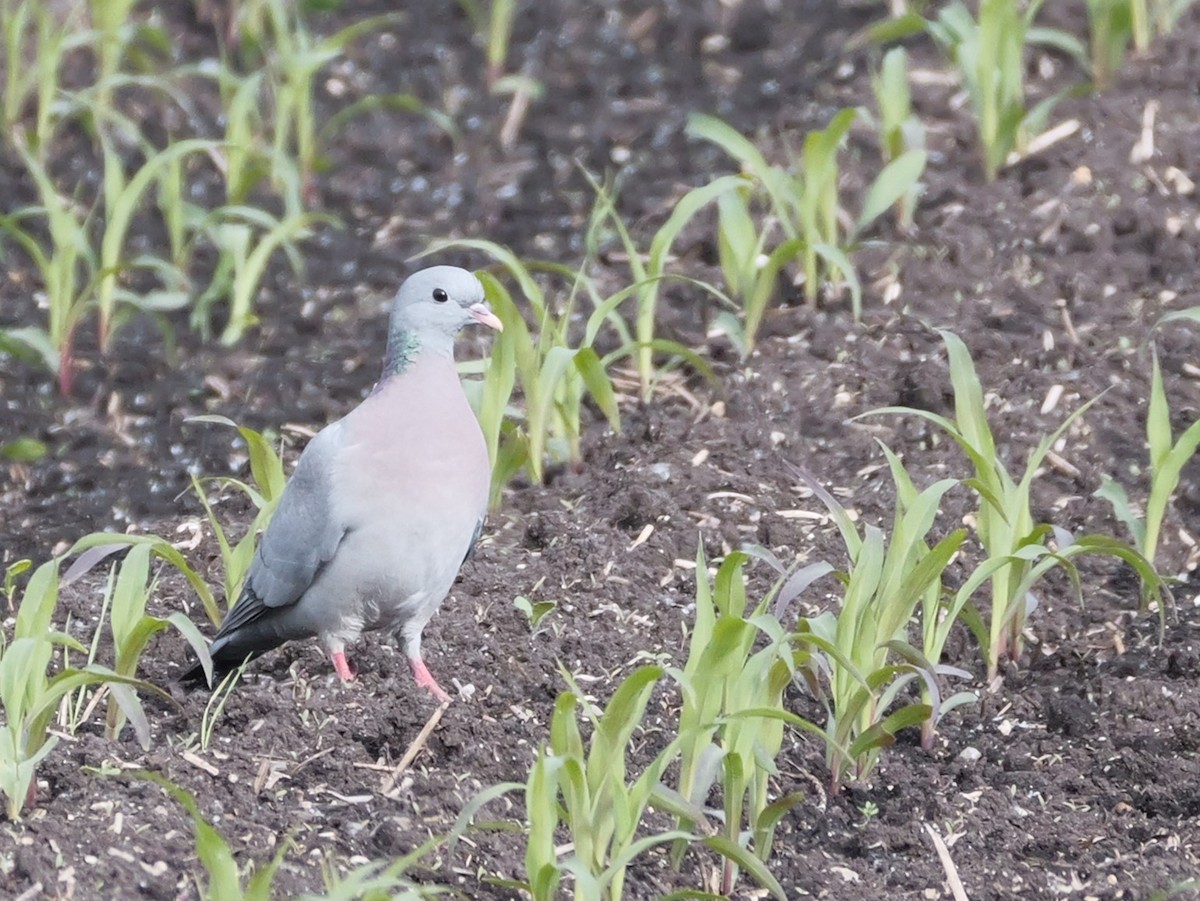
M 390 8 L 354 6 L 355 14 Z M 874 4 L 538 4 L 518 18 L 512 59 L 546 92 L 503 150 L 506 101 L 484 89 L 481 52 L 457 6 L 407 6 L 403 26 L 353 46 L 320 79 L 323 115 L 366 94 L 412 92 L 452 107 L 461 137 L 451 140 L 415 115 L 353 121 L 328 148 L 328 170 L 317 179 L 319 206 L 346 228 L 310 242 L 302 282 L 283 266 L 272 274 L 262 326 L 236 350 L 202 346 L 180 323 L 180 347 L 169 355 L 154 330 L 134 325 L 101 359 L 85 334 L 70 398 L 54 394 L 44 372 L 0 359 L 0 443 L 29 436 L 50 448 L 40 462 L 0 471 L 0 563 L 44 559 L 101 529 L 185 542 L 198 534 L 190 559 L 220 584 L 188 473 L 244 474 L 245 459 L 232 433 L 185 425 L 187 416 L 319 428 L 370 389 L 385 298 L 428 238 L 488 238 L 574 265 L 592 205 L 578 166 L 619 170 L 622 210 L 648 240 L 686 187 L 730 170 L 716 151 L 684 137 L 690 112 L 716 113 L 782 154 L 833 110 L 869 102 L 869 54 L 845 47 L 878 13 Z M 175 25 L 197 53 L 212 52 L 206 25 Z M 923 42 L 912 52 L 914 66 L 941 71 Z M 1081 78 L 1062 59 L 1044 62 L 1055 82 Z M 884 404 L 952 412 L 937 328 L 971 347 L 1013 469 L 1069 410 L 1106 392 L 1058 449 L 1074 469 L 1048 468 L 1038 480 L 1034 513 L 1074 534 L 1120 534 L 1092 492 L 1112 474 L 1145 497 L 1152 343 L 1176 432 L 1200 415 L 1200 328 L 1156 328 L 1163 313 L 1200 304 L 1200 202 L 1188 181 L 1200 179 L 1198 85 L 1194 10 L 1110 90 L 1058 107 L 1056 121 L 1079 120 L 1075 134 L 985 185 L 952 90 L 925 79 L 916 100 L 930 130 L 928 188 L 912 235 L 884 227 L 883 242 L 859 256 L 864 322 L 852 320 L 848 305 L 811 311 L 790 296 L 743 365 L 724 338 L 706 337 L 703 298 L 665 289 L 666 334 L 704 348 L 719 384 L 668 380 L 649 406 L 625 404 L 620 434 L 596 418 L 582 471 L 505 493 L 426 631 L 431 669 L 460 697 L 396 791 L 380 791 L 385 768 L 433 711 L 402 657 L 366 644 L 355 655 L 359 679 L 343 686 L 313 644 L 288 647 L 252 667 L 208 751 L 196 747 L 203 693 L 180 695 L 180 709 L 148 701 L 148 753 L 128 735 L 103 741 L 98 722 L 65 737 L 41 769 L 37 806 L 0 825 L 0 894 L 41 885 L 41 895 L 24 896 L 194 897 L 199 865 L 186 816 L 127 768 L 157 770 L 192 791 L 239 860 L 265 860 L 290 837 L 281 894 L 319 890 L 326 858 L 346 870 L 445 833 L 479 789 L 524 779 L 564 687 L 559 665 L 604 698 L 640 653 L 680 659 L 694 591 L 685 563 L 697 536 L 710 559 L 756 541 L 785 561 L 845 564 L 830 524 L 793 515 L 821 509 L 788 462 L 881 524 L 890 521 L 892 489 L 875 438 L 904 456 L 918 483 L 967 475 L 954 448 L 914 419 L 850 421 Z M 1044 78 L 1037 88 L 1048 88 Z M 1130 163 L 1152 102 L 1153 155 Z M 868 131 L 853 136 L 846 164 L 850 184 L 877 166 Z M 0 186 L 11 188 L 6 198 L 28 192 L 11 164 L 0 169 Z M 678 271 L 716 280 L 704 229 L 689 232 L 677 251 Z M 618 283 L 622 263 L 602 264 Z M 7 265 L 4 324 L 32 310 L 19 254 Z M 1043 413 L 1055 385 L 1062 398 Z M 1184 474 L 1160 552 L 1163 571 L 1184 579 L 1196 563 L 1198 475 L 1195 465 Z M 223 510 L 248 524 L 242 501 Z M 952 492 L 941 528 L 968 511 L 968 492 Z M 647 525 L 653 533 L 636 543 Z M 793 737 L 778 791 L 806 792 L 808 800 L 782 822 L 770 863 L 791 896 L 949 897 L 925 825 L 944 837 L 972 899 L 1150 897 L 1200 872 L 1196 585 L 1176 588 L 1177 621 L 1159 643 L 1156 621 L 1138 613 L 1128 573 L 1094 563 L 1082 576 L 1082 606 L 1066 581 L 1043 585 L 1021 668 L 984 692 L 980 705 L 952 714 L 932 752 L 901 734 L 869 782 L 828 797 L 822 749 Z M 752 573 L 755 590 L 767 583 L 768 573 Z M 535 633 L 512 605 L 518 595 L 557 602 Z M 814 589 L 808 600 L 827 599 Z M 98 583 L 73 585 L 64 603 L 72 631 L 90 636 Z M 164 573 L 154 607 L 180 606 L 203 619 Z M 982 677 L 966 637 L 948 654 Z M 146 654 L 144 675 L 169 684 L 185 657 L 182 641 L 166 635 Z M 799 692 L 794 703 L 817 715 Z M 647 727 L 659 728 L 674 704 L 660 690 Z M 184 756 L 188 749 L 203 768 Z M 518 797 L 490 816 L 520 821 Z M 486 879 L 522 876 L 520 834 L 468 837 L 454 858 L 432 855 L 419 878 L 468 897 L 508 896 Z M 649 855 L 628 894 L 698 889 L 713 866 L 697 854 L 680 875 Z

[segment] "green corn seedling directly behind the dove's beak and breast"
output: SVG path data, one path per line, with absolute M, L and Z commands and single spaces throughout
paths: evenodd
M 563 266 L 526 264 L 511 251 L 491 241 L 446 241 L 430 252 L 454 250 L 480 251 L 497 260 L 517 284 L 536 325 L 536 337 L 517 307 L 505 284 L 490 272 L 480 280 L 492 310 L 504 323 L 504 331 L 496 336 L 492 356 L 484 370 L 482 384 L 473 390 L 476 412 L 492 459 L 492 498 L 522 467 L 529 479 L 540 483 L 547 461 L 582 462 L 583 400 L 590 397 L 613 430 L 620 428 L 620 412 L 608 377 L 611 360 L 601 360 L 593 348 L 602 322 L 600 312 L 593 313 L 584 340 L 571 347 L 569 329 L 582 272 Z M 562 305 L 547 301 L 533 276 L 533 268 L 571 280 L 572 288 Z M 506 427 L 510 398 L 520 386 L 524 398 L 523 426 Z

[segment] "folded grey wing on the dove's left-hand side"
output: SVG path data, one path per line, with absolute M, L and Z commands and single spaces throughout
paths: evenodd
M 338 426 L 322 430 L 300 455 L 258 543 L 241 596 L 221 623 L 218 639 L 299 601 L 337 552 L 348 531 L 348 525 L 334 515 L 331 497 L 331 458 L 340 443 Z

